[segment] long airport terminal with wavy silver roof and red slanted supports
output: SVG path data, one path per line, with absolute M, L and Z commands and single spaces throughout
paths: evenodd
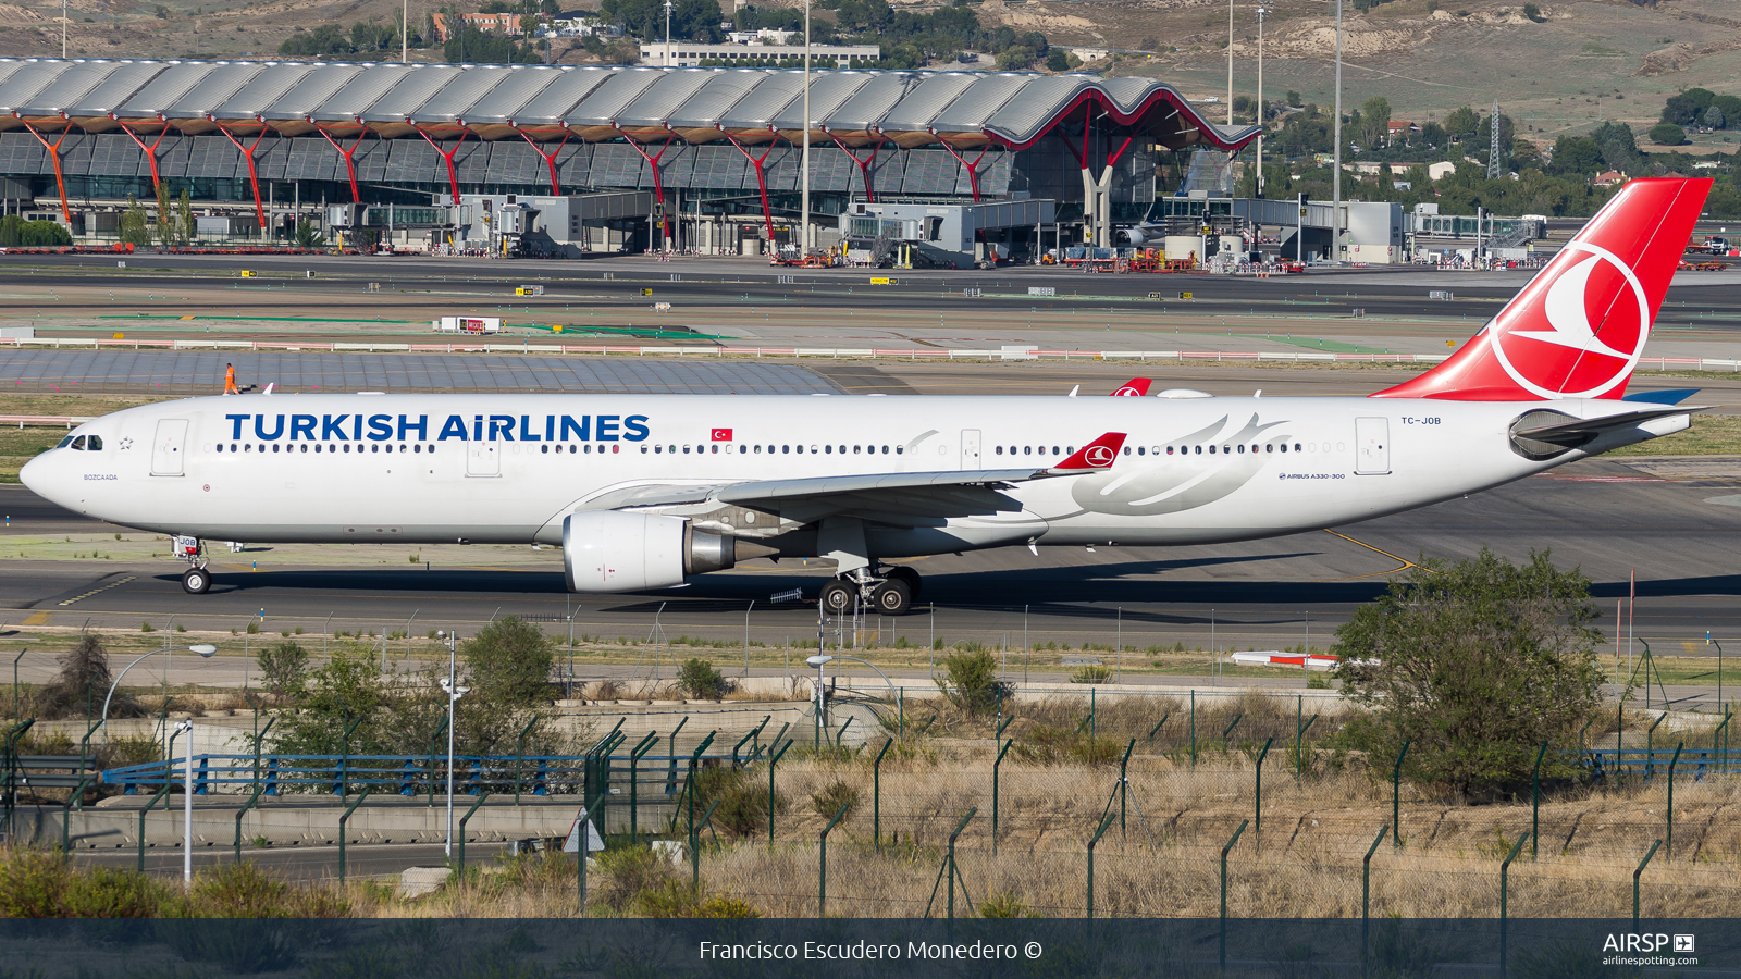
M 949 261 L 961 242 L 923 239 L 944 225 L 1106 246 L 1153 206 L 1160 152 L 1257 136 L 1149 78 L 810 78 L 818 246 L 874 230 Z M 0 209 L 113 240 L 129 195 L 186 190 L 254 240 L 301 218 L 402 247 L 759 253 L 797 240 L 804 129 L 796 70 L 0 59 Z M 985 207 L 1008 202 L 1031 204 Z M 864 219 L 893 204 L 938 219 Z

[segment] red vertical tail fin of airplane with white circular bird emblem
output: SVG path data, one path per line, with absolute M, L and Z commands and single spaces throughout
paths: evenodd
M 1372 397 L 1623 397 L 1710 190 L 1630 181 L 1462 350 Z

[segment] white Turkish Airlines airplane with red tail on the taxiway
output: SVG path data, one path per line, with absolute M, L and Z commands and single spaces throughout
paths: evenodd
M 242 394 L 129 408 L 31 460 L 70 510 L 205 540 L 561 545 L 575 592 L 823 557 L 830 613 L 900 557 L 1280 537 L 1691 425 L 1626 397 L 1710 179 L 1633 179 L 1445 362 L 1368 397 Z

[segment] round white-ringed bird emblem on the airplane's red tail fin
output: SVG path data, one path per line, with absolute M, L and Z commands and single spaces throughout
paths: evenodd
M 1631 267 L 1605 247 L 1572 242 L 1548 286 L 1548 329 L 1501 329 L 1494 354 L 1511 380 L 1539 397 L 1600 397 L 1624 383 L 1650 336 L 1650 303 Z M 1534 314 L 1527 308 L 1525 315 Z M 1602 331 L 1596 336 L 1596 331 Z

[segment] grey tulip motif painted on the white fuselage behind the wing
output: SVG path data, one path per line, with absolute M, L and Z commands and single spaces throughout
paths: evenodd
M 1128 517 L 1177 514 L 1213 503 L 1250 483 L 1271 460 L 1273 453 L 1264 448 L 1269 442 L 1281 442 L 1283 437 L 1266 439 L 1264 432 L 1276 425 L 1287 422 L 1259 423 L 1257 415 L 1252 415 L 1243 429 L 1229 434 L 1227 416 L 1222 416 L 1213 425 L 1172 439 L 1173 446 L 1191 449 L 1203 446 L 1203 455 L 1191 451 L 1182 456 L 1161 456 L 1147 465 L 1083 476 L 1071 484 L 1071 496 L 1085 510 Z M 1213 453 L 1208 451 L 1212 444 Z M 1245 451 L 1240 451 L 1241 446 Z

